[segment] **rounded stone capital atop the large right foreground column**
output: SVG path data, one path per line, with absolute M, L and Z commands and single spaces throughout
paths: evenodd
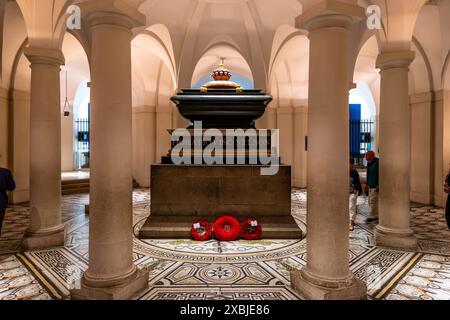
M 326 28 L 348 29 L 366 17 L 364 9 L 355 3 L 321 0 L 307 8 L 296 19 L 296 27 L 313 32 Z

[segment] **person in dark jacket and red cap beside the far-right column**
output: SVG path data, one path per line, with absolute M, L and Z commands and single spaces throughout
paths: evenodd
M 369 207 L 370 213 L 366 219 L 367 223 L 378 221 L 378 192 L 379 186 L 379 164 L 380 160 L 375 156 L 375 152 L 369 151 L 366 154 L 367 160 L 367 185 L 369 187 Z

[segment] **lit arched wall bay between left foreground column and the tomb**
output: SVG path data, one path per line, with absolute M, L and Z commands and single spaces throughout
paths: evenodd
M 133 177 L 150 186 L 150 167 L 170 148 L 167 130 L 183 120 L 170 98 L 178 72 L 170 33 L 164 25 L 139 32 L 131 43 L 133 93 Z

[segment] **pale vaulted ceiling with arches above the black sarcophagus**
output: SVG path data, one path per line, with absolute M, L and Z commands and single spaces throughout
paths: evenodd
M 42 1 L 59 5 L 58 8 L 65 2 Z M 93 0 L 76 2 L 83 1 Z M 220 58 L 225 58 L 232 70 L 252 78 L 255 87 L 277 90 L 291 99 L 307 99 L 309 42 L 304 32 L 295 28 L 295 19 L 317 0 L 125 1 L 147 17 L 147 25 L 135 30 L 136 38 L 132 43 L 133 83 L 139 90 L 156 90 L 156 82 L 160 78 L 167 79 L 165 91 L 190 87 L 202 78 L 202 74 L 208 74 Z M 399 37 L 395 25 L 401 24 L 401 19 L 400 22 L 396 20 L 399 18 L 395 12 L 408 9 L 412 17 L 412 12 L 418 10 L 422 0 L 417 1 L 417 6 L 409 9 L 395 6 L 400 2 L 411 4 L 404 0 L 358 1 L 361 5 L 379 3 L 383 9 L 383 23 L 390 25 L 384 35 L 372 38 L 364 23 L 355 28 L 354 38 L 358 40 L 352 43 L 354 55 L 358 57 L 355 58 L 355 82 L 370 84 L 377 80 L 375 59 L 380 48 L 383 48 L 383 37 L 394 42 Z M 13 84 L 18 89 L 26 90 L 28 63 L 20 56 L 20 49 L 26 45 L 27 24 L 43 19 L 27 18 L 15 1 L 2 4 L 5 8 L 0 7 L 0 10 L 6 14 L 5 37 L 0 51 L 3 61 L 1 86 L 9 88 Z M 410 20 L 408 17 L 402 18 L 413 26 L 415 24 L 412 49 L 418 53 L 418 58 L 411 68 L 411 87 L 413 91 L 439 90 L 442 85 L 448 88 L 450 76 L 446 75 L 449 73 L 450 38 L 443 31 L 450 30 L 450 0 L 429 1 L 420 8 L 414 23 L 411 17 Z M 393 16 L 387 15 L 389 10 L 392 10 Z M 63 51 L 69 67 L 82 65 L 88 75 L 87 64 L 80 60 L 86 60 L 80 50 L 88 46 L 83 43 L 85 38 L 82 32 L 77 36 L 82 46 L 76 46 L 74 38 L 70 38 L 64 40 Z

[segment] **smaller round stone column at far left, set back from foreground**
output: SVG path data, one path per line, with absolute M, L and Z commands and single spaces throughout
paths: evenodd
M 61 51 L 27 48 L 31 62 L 30 207 L 24 250 L 64 245 L 61 221 Z

